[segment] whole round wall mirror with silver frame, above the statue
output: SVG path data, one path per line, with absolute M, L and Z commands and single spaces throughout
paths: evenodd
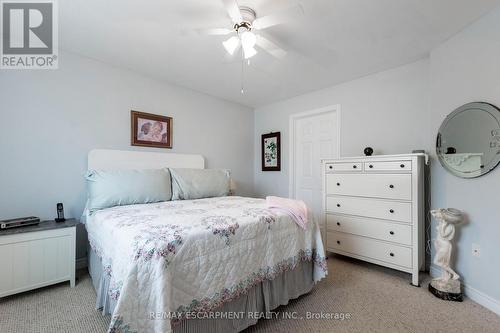
M 469 103 L 446 117 L 439 128 L 436 152 L 441 165 L 462 178 L 482 176 L 500 162 L 500 110 Z

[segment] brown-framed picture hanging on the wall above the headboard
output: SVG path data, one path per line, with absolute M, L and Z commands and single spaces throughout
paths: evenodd
M 172 148 L 172 118 L 131 111 L 132 146 Z

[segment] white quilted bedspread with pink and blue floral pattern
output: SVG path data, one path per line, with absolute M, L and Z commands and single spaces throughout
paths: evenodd
M 303 230 L 262 199 L 114 207 L 86 226 L 117 300 L 110 332 L 170 332 L 170 318 L 215 310 L 302 261 L 314 281 L 327 273 L 317 224 Z

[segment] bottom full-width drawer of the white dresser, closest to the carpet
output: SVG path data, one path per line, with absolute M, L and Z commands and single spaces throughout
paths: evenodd
M 412 267 L 410 248 L 339 232 L 327 233 L 327 248 L 368 257 L 406 268 Z

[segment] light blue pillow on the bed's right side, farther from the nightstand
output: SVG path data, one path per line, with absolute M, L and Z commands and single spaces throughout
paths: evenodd
M 229 194 L 231 174 L 223 169 L 170 169 L 172 200 L 223 197 Z

